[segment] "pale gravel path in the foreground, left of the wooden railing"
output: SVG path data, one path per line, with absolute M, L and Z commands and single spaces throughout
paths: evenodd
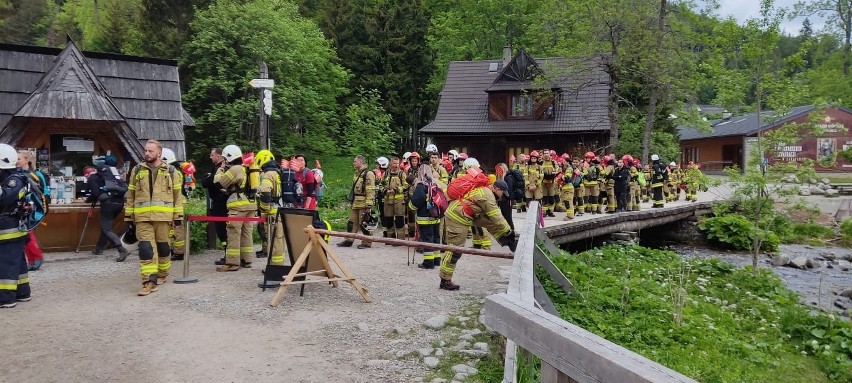
M 462 290 L 447 292 L 437 270 L 406 266 L 405 248 L 334 249 L 373 303 L 348 284 L 317 283 L 272 308 L 274 290 L 256 286 L 259 263 L 216 273 L 222 251 L 192 258 L 199 283 L 169 282 L 148 297 L 136 296 L 136 262 L 48 255 L 31 273 L 33 300 L 0 312 L 0 382 L 411 381 L 428 369 L 391 356 L 440 339 L 422 325 L 430 317 L 469 314 L 460 310 L 471 301 L 505 291 L 511 264 L 465 255 L 454 278 Z

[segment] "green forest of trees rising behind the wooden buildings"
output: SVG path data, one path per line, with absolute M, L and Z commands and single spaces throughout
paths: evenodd
M 0 43 L 175 59 L 197 126 L 189 153 L 257 146 L 269 66 L 279 152 L 410 150 L 437 109 L 447 65 L 533 57 L 606 59 L 618 153 L 675 158 L 698 105 L 737 114 L 852 98 L 852 1 L 761 0 L 738 23 L 713 0 L 0 0 Z M 810 18 L 825 22 L 816 30 Z M 781 23 L 802 20 L 795 33 Z M 709 128 L 709 125 L 708 125 Z

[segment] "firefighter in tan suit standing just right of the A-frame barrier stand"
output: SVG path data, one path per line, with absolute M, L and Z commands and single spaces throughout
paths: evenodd
M 347 225 L 352 225 L 349 230 L 350 233 L 357 233 L 360 229 L 364 235 L 369 237 L 371 233 L 367 229 L 366 223 L 370 219 L 373 203 L 376 199 L 376 173 L 367 168 L 364 156 L 355 156 L 352 166 L 355 168 L 355 175 L 352 178 L 352 210 L 349 213 Z M 338 243 L 337 246 L 351 247 L 353 242 L 351 239 L 346 239 Z M 365 239 L 357 247 L 368 249 L 371 245 L 372 242 Z

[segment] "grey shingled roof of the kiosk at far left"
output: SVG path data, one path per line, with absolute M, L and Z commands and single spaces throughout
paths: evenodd
M 174 60 L 0 44 L 0 140 L 22 134 L 13 117 L 67 118 L 126 124 L 119 139 L 137 140 L 134 157 L 155 139 L 185 158 L 183 109 Z M 129 142 L 125 142 L 126 145 Z

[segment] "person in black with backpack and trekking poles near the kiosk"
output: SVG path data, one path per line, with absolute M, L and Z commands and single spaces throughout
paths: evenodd
M 106 184 L 106 177 L 113 177 L 115 179 L 120 179 L 121 177 L 115 168 L 117 161 L 113 155 L 100 157 L 95 160 L 94 165 L 97 171 L 89 175 L 86 180 L 88 188 L 91 191 L 91 194 L 86 197 L 86 202 L 92 204 L 92 207 L 97 203 L 101 204 L 101 208 L 98 210 L 101 236 L 98 238 L 92 254 L 103 254 L 104 246 L 107 243 L 111 243 L 112 247 L 118 249 L 118 257 L 115 260 L 117 262 L 124 262 L 127 256 L 130 255 L 130 251 L 121 245 L 121 239 L 112 231 L 115 219 L 121 213 L 121 210 L 124 209 L 124 195 L 114 195 L 103 190 Z

